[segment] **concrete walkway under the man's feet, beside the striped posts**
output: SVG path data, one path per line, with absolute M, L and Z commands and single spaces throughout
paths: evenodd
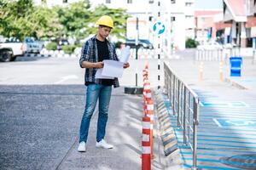
M 109 108 L 106 140 L 114 145 L 112 150 L 96 148 L 97 109 L 91 118 L 90 133 L 84 153 L 78 152 L 79 140 L 57 169 L 139 169 L 141 113 L 140 96 L 125 95 L 122 88 L 113 91 Z M 82 115 L 81 115 L 82 116 Z

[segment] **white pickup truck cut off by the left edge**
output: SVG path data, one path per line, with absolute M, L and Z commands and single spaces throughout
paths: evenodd
M 0 61 L 14 61 L 17 56 L 24 55 L 25 45 L 23 42 L 8 39 L 0 43 Z

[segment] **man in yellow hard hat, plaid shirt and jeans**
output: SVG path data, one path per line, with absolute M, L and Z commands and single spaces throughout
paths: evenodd
M 118 78 L 98 79 L 96 78 L 97 69 L 103 68 L 102 60 L 119 60 L 115 52 L 113 43 L 106 39 L 113 29 L 113 20 L 110 16 L 104 15 L 97 22 L 98 31 L 95 37 L 91 37 L 84 43 L 79 64 L 85 68 L 84 81 L 87 86 L 84 116 L 80 126 L 79 148 L 78 151 L 86 150 L 86 141 L 90 127 L 90 118 L 99 100 L 99 116 L 96 132 L 96 147 L 112 149 L 113 145 L 104 140 L 106 125 L 108 122 L 108 105 L 111 98 L 112 85 L 119 87 Z M 124 64 L 124 68 L 129 67 L 129 63 Z

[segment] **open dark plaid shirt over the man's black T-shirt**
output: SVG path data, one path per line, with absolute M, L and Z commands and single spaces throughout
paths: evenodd
M 112 43 L 108 42 L 108 51 L 109 51 L 109 59 L 113 60 L 119 60 L 117 57 L 117 54 L 115 52 L 115 47 Z M 82 68 L 82 62 L 88 61 L 88 62 L 98 62 L 98 50 L 96 45 L 96 36 L 91 37 L 87 42 L 84 43 L 84 46 L 82 48 L 81 57 L 79 59 L 80 67 Z M 85 82 L 94 82 L 96 84 L 101 84 L 102 80 L 95 78 L 97 69 L 96 68 L 86 68 L 85 74 L 84 74 L 84 83 Z M 118 88 L 119 87 L 119 80 L 118 78 L 113 79 L 113 87 Z

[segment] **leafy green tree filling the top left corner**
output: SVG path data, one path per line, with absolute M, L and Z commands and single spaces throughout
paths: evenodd
M 61 31 L 55 10 L 34 7 L 32 0 L 2 0 L 0 34 L 4 37 L 51 37 Z

